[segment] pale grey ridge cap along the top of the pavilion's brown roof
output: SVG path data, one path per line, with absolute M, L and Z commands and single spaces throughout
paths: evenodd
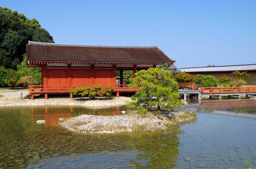
M 91 44 L 56 44 L 45 42 L 28 41 L 28 44 L 45 45 L 45 46 L 71 46 L 71 47 L 91 47 L 91 48 L 158 48 L 156 46 L 114 46 L 114 45 L 91 45 Z

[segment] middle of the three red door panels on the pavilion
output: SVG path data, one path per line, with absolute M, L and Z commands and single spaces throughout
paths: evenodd
M 90 85 L 90 70 L 73 70 L 72 85 L 73 86 Z

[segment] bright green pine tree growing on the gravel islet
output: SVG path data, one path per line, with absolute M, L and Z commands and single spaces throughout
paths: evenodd
M 130 107 L 138 107 L 139 112 L 144 113 L 152 110 L 152 106 L 166 108 L 177 107 L 181 104 L 178 99 L 177 82 L 168 70 L 150 68 L 135 73 L 136 80 L 129 86 L 141 86 L 141 89 L 131 98 Z

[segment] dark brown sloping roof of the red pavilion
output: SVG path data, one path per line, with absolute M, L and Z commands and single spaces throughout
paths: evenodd
M 31 42 L 27 60 L 37 62 L 151 63 L 175 62 L 157 46 L 108 46 Z

